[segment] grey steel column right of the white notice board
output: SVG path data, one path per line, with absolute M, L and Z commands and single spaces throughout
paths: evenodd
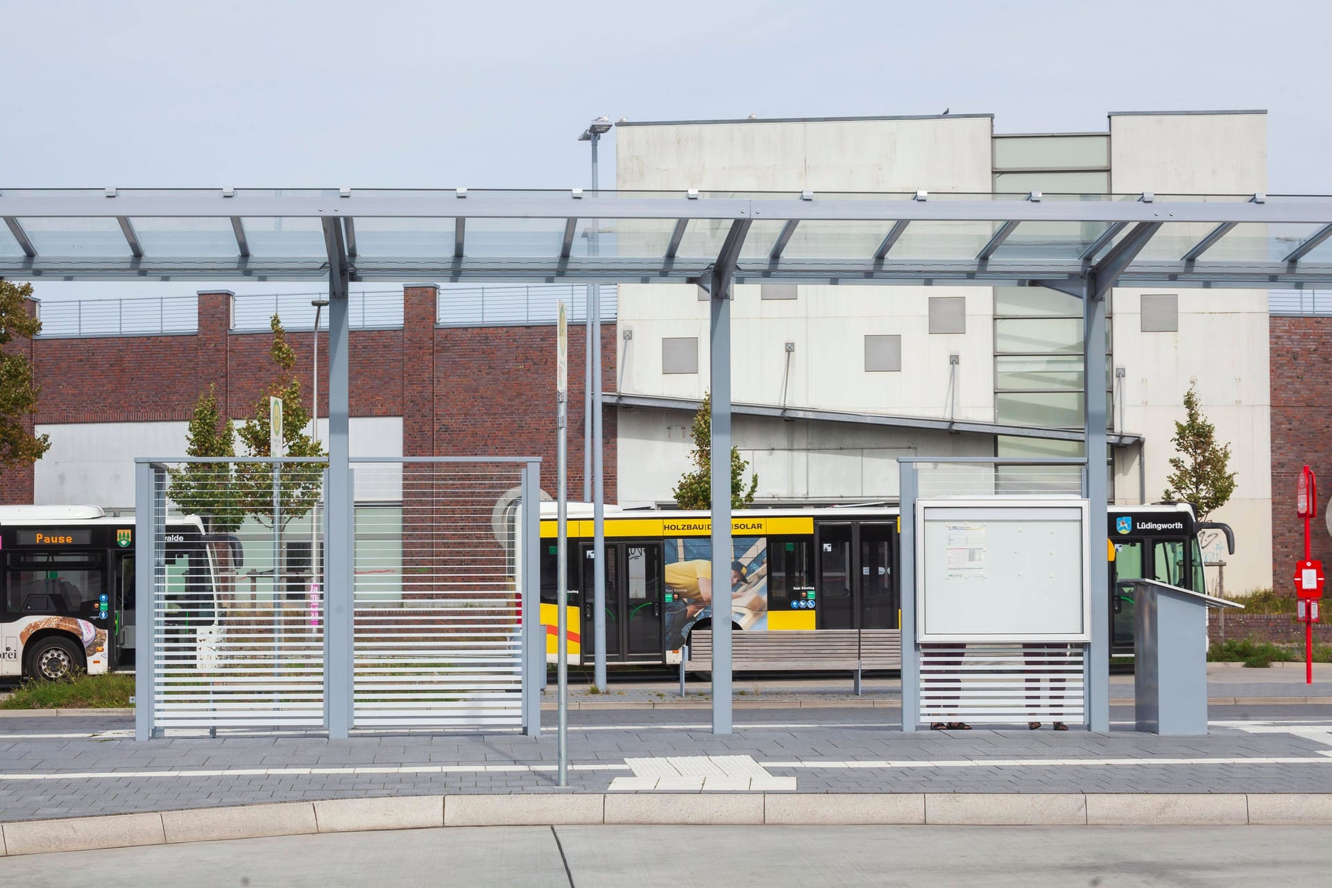
M 1091 644 L 1087 718 L 1092 731 L 1110 731 L 1110 560 L 1106 553 L 1106 301 L 1096 276 L 1083 296 L 1083 403 L 1086 405 L 1086 495 L 1091 501 Z

